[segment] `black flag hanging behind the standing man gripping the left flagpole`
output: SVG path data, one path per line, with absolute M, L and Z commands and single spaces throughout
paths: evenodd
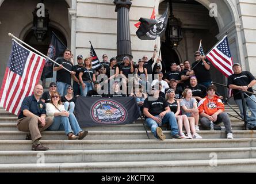
M 52 60 L 55 60 L 58 57 L 63 57 L 63 52 L 67 47 L 58 39 L 54 32 L 52 32 L 51 43 L 49 44 L 47 56 Z M 52 68 L 54 63 L 49 59 L 46 59 L 44 64 L 44 70 L 41 75 L 41 79 L 52 78 Z

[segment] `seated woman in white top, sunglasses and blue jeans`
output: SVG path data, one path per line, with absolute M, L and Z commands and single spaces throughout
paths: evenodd
M 52 93 L 51 102 L 46 104 L 46 114 L 54 119 L 49 131 L 65 131 L 70 140 L 83 139 L 88 134 L 79 127 L 74 114 L 65 110 L 58 92 Z

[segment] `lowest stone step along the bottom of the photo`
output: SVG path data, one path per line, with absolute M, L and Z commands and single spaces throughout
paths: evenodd
M 184 172 L 254 172 L 256 159 L 178 160 L 152 162 L 97 162 L 97 163 L 45 163 L 0 164 L 0 172 L 97 172 L 97 173 L 184 173 Z M 154 174 L 153 174 L 154 175 Z M 127 178 L 122 178 L 126 181 Z

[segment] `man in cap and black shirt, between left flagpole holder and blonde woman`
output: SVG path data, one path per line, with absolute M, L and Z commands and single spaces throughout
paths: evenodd
M 74 96 L 81 95 L 80 92 L 80 82 L 79 82 L 79 73 L 81 71 L 81 68 L 83 67 L 83 56 L 78 55 L 77 56 L 77 65 L 75 65 L 72 69 L 72 71 L 75 71 L 75 75 L 72 75 L 73 78 L 73 89 L 74 89 Z

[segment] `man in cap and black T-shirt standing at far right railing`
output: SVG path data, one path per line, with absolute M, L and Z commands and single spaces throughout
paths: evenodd
M 249 71 L 242 71 L 242 68 L 239 63 L 234 63 L 232 66 L 234 74 L 228 76 L 228 87 L 233 90 L 234 99 L 236 104 L 239 107 L 240 113 L 243 117 L 243 104 L 242 97 L 239 93 L 239 90 L 249 91 L 253 93 L 253 86 L 256 84 L 256 79 Z M 249 97 L 247 96 L 249 95 Z M 256 101 L 255 95 L 244 94 L 244 105 L 246 107 L 246 116 L 248 120 L 248 128 L 256 129 Z M 253 101 L 253 100 L 254 101 Z M 251 111 L 251 117 L 249 117 L 248 110 Z

